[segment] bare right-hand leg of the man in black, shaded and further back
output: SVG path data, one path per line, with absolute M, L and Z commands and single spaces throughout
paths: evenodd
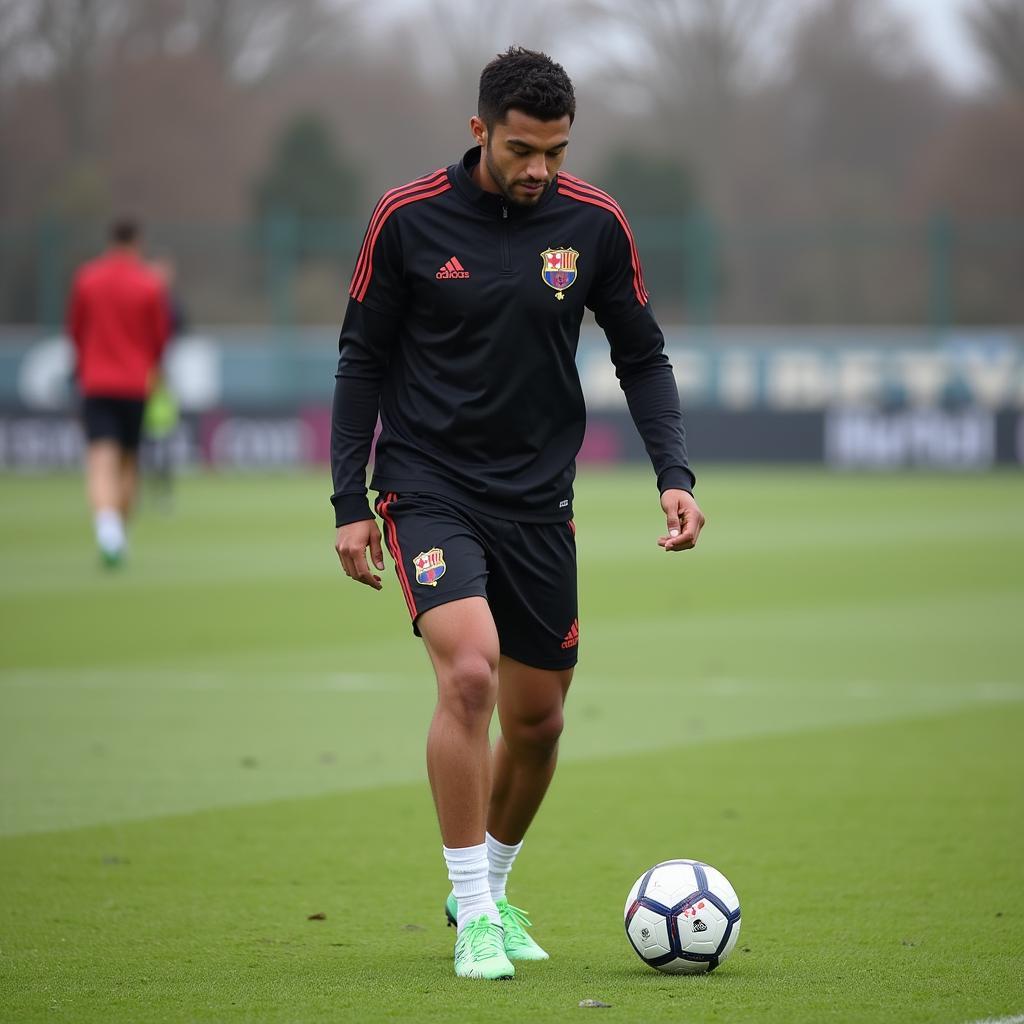
M 572 670 L 532 669 L 502 657 L 499 677 L 502 735 L 495 743 L 487 831 L 514 846 L 526 835 L 555 773 Z

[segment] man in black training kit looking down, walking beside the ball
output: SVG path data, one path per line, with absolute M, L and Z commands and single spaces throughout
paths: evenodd
M 547 55 L 513 47 L 492 60 L 473 148 L 377 204 L 339 341 L 336 550 L 348 577 L 380 590 L 366 489 L 379 414 L 371 486 L 437 679 L 427 772 L 463 977 L 510 978 L 512 961 L 548 958 L 506 883 L 555 769 L 579 650 L 585 308 L 656 473 L 658 544 L 692 548 L 703 524 L 633 232 L 611 197 L 560 170 L 574 114 L 572 84 Z

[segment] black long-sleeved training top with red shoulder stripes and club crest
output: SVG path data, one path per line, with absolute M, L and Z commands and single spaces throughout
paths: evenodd
M 341 329 L 331 463 L 337 524 L 375 490 L 430 492 L 505 519 L 572 515 L 586 425 L 584 307 L 604 329 L 660 490 L 690 490 L 679 392 L 633 232 L 606 193 L 564 172 L 534 207 L 453 166 L 386 193 Z

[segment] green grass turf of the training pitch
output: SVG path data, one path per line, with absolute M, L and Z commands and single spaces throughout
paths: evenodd
M 103 574 L 79 484 L 0 481 L 0 1019 L 967 1022 L 1024 1013 L 1024 481 L 707 471 L 578 488 L 581 668 L 511 895 L 552 953 L 459 981 L 432 684 L 326 482 L 188 478 Z M 643 967 L 633 880 L 743 907 Z M 325 920 L 307 920 L 323 912 Z

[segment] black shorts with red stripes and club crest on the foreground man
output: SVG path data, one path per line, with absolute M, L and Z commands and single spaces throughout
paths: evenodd
M 569 669 L 580 643 L 575 527 L 515 522 L 440 495 L 382 494 L 377 514 L 413 618 L 465 597 L 490 607 L 501 651 L 537 669 Z

